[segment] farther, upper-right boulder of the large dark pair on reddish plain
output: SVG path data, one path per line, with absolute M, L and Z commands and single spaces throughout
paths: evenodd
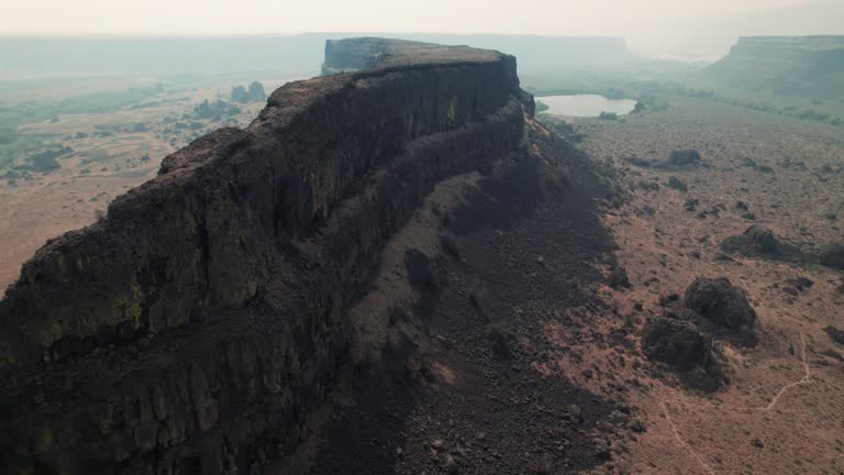
M 695 279 L 686 289 L 685 302 L 709 321 L 732 330 L 753 328 L 756 322 L 744 290 L 724 277 Z

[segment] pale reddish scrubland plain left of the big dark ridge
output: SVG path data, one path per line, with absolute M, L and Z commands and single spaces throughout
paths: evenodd
M 284 82 L 263 81 L 267 90 Z M 70 81 L 70 86 L 74 84 Z M 96 81 L 87 85 L 98 86 Z M 264 101 L 237 103 L 237 114 L 216 121 L 185 117 L 192 115 L 193 108 L 203 100 L 227 101 L 230 89 L 226 82 L 160 93 L 118 111 L 59 115 L 19 126 L 18 141 L 37 145 L 19 153 L 18 164 L 44 151 L 73 151 L 60 155 L 60 168 L 49 173 L 30 172 L 3 179 L 11 176 L 5 173 L 12 168 L 0 167 L 0 295 L 18 278 L 21 264 L 48 239 L 95 222 L 112 199 L 154 177 L 167 154 L 220 126 L 248 124 Z M 67 90 L 79 91 L 90 92 Z

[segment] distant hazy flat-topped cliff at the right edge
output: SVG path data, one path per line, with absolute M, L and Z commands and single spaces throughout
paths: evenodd
M 740 37 L 706 73 L 740 88 L 837 98 L 844 95 L 844 36 Z

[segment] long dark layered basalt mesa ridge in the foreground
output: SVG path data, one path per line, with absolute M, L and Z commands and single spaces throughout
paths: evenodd
M 297 446 L 384 243 L 436 183 L 519 153 L 533 111 L 512 56 L 327 52 L 362 70 L 279 88 L 23 266 L 0 302 L 0 472 L 249 473 Z

